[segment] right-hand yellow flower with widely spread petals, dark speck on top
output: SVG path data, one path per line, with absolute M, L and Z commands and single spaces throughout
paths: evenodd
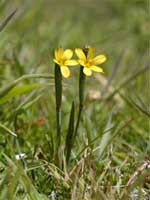
M 103 69 L 100 67 L 97 67 L 96 65 L 99 65 L 103 62 L 106 61 L 106 56 L 105 55 L 98 55 L 96 57 L 93 57 L 94 54 L 94 49 L 93 48 L 86 48 L 87 53 L 80 49 L 77 48 L 75 49 L 75 53 L 78 57 L 78 63 L 83 66 L 83 72 L 86 76 L 91 76 L 92 71 L 95 72 L 102 72 Z

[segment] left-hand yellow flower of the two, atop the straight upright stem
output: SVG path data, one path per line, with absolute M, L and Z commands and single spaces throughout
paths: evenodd
M 53 61 L 60 66 L 60 70 L 62 75 L 67 78 L 70 76 L 70 70 L 68 66 L 78 65 L 76 60 L 70 60 L 73 55 L 73 51 L 71 49 L 64 50 L 63 48 L 58 48 L 54 52 L 55 58 Z

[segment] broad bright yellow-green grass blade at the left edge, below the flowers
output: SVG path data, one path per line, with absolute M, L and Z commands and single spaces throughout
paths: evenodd
M 5 96 L 0 98 L 0 104 L 5 103 L 9 99 L 11 99 L 17 95 L 21 95 L 26 92 L 30 92 L 31 90 L 33 90 L 35 88 L 43 88 L 43 87 L 47 87 L 47 86 L 48 86 L 48 84 L 37 84 L 37 83 L 23 85 L 23 86 L 16 86 L 12 90 L 10 90 Z

